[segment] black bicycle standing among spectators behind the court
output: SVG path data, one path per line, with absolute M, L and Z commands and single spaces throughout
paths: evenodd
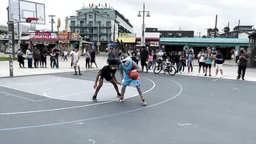
M 176 74 L 176 69 L 175 67 L 172 65 L 171 62 L 157 62 L 158 63 L 158 66 L 155 66 L 155 69 L 154 69 L 154 73 L 155 74 L 158 74 L 160 72 L 168 72 L 169 75 L 175 75 Z M 165 65 L 165 69 L 163 68 L 162 64 L 164 63 Z M 157 72 L 159 71 L 159 72 Z M 171 73 L 171 72 L 174 72 L 174 73 Z

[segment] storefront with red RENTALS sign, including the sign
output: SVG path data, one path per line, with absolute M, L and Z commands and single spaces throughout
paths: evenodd
M 30 32 L 30 48 L 36 47 L 37 49 L 47 50 L 56 46 L 57 34 L 52 32 Z

